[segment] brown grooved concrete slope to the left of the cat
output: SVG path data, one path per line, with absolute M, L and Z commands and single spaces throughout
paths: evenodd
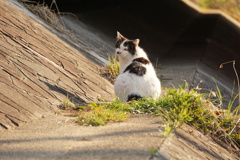
M 75 103 L 113 96 L 98 66 L 30 16 L 0 1 L 0 132 Z

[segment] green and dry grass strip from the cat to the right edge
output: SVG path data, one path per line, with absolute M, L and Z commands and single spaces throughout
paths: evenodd
M 231 101 L 229 104 L 233 104 L 233 102 Z M 204 94 L 200 94 L 194 89 L 188 90 L 186 87 L 180 86 L 179 89 L 167 90 L 161 100 L 159 115 L 168 124 L 165 129 L 167 132 L 174 131 L 182 124 L 189 124 L 210 134 L 215 140 L 224 142 L 225 147 L 231 145 L 236 151 L 239 151 L 240 126 L 237 121 L 239 121 L 240 108 L 238 106 L 234 111 L 231 109 L 232 106 L 229 106 L 226 111 L 216 110 L 209 97 L 206 98 Z

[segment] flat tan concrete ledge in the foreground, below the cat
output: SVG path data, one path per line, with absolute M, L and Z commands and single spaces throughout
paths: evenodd
M 148 159 L 160 132 L 156 119 L 132 118 L 83 127 L 62 116 L 46 117 L 0 138 L 0 159 Z

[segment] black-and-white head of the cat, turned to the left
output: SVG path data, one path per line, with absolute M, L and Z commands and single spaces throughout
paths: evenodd
M 132 57 L 136 54 L 139 42 L 139 39 L 129 40 L 117 32 L 115 53 L 122 58 Z

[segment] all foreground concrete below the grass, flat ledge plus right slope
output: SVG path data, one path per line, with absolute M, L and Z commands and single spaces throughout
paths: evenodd
M 51 115 L 3 133 L 0 159 L 238 159 L 188 126 L 165 139 L 159 120 L 136 116 L 122 123 L 84 127 L 72 118 Z M 160 149 L 151 157 L 152 147 Z

